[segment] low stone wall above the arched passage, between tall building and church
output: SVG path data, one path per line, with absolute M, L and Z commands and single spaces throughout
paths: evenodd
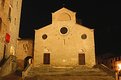
M 18 67 L 24 68 L 25 59 L 33 56 L 33 40 L 18 39 L 16 48 L 16 57 Z M 26 59 L 27 60 L 27 59 Z

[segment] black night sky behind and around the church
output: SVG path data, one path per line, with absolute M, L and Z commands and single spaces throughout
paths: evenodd
M 66 7 L 82 25 L 95 29 L 97 54 L 121 54 L 121 2 L 117 0 L 23 0 L 21 38 L 34 38 L 34 29 L 51 23 L 51 13 Z

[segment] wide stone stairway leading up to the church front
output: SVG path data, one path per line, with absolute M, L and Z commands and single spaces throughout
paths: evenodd
M 53 68 L 42 66 L 31 68 L 25 80 L 115 80 L 99 68 L 75 67 Z

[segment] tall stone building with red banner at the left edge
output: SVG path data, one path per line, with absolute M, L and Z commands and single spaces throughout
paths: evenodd
M 22 0 L 0 0 L 0 62 L 16 54 Z

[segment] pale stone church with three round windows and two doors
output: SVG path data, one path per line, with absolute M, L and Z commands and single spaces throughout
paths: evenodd
M 34 67 L 94 66 L 94 29 L 76 23 L 76 13 L 61 8 L 52 13 L 52 24 L 35 30 Z

